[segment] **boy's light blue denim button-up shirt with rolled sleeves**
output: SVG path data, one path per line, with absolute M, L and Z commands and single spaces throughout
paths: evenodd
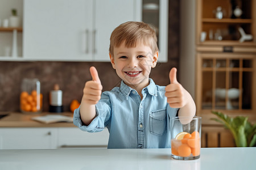
M 96 118 L 85 126 L 80 108 L 74 112 L 73 123 L 88 132 L 109 130 L 108 148 L 170 148 L 170 118 L 177 110 L 164 96 L 165 86 L 150 84 L 143 88 L 143 99 L 124 82 L 105 91 L 96 104 Z

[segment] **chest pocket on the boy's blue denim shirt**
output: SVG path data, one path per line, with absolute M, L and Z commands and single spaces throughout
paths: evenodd
M 162 136 L 167 131 L 166 109 L 150 113 L 150 133 Z

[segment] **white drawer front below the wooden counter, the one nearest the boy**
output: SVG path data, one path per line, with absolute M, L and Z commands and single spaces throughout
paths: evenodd
M 59 128 L 58 148 L 104 147 L 108 146 L 109 131 L 104 129 L 98 133 L 89 133 L 79 128 Z

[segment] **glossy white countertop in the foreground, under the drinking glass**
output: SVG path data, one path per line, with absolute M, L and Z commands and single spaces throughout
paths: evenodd
M 255 169 L 256 147 L 201 148 L 200 159 L 171 159 L 171 149 L 0 150 L 0 169 Z

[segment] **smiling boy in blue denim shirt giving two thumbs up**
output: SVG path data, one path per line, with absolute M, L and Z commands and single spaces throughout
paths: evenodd
M 126 22 L 110 36 L 109 56 L 122 79 L 120 87 L 101 93 L 95 67 L 85 83 L 81 105 L 74 112 L 74 124 L 81 130 L 109 130 L 108 148 L 170 148 L 170 118 L 195 116 L 195 103 L 170 71 L 171 84 L 155 85 L 149 78 L 158 60 L 154 29 L 143 22 Z

